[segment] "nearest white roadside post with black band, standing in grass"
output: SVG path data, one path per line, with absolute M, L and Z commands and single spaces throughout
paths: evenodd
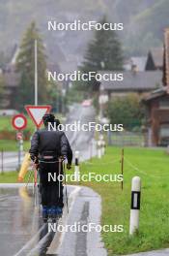
M 140 213 L 140 199 L 141 199 L 141 178 L 134 176 L 131 184 L 131 208 L 129 221 L 129 235 L 133 235 L 139 227 L 139 213 Z

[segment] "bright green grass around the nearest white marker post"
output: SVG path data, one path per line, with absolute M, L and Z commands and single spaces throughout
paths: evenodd
M 121 148 L 108 147 L 101 160 L 93 159 L 82 164 L 81 173 L 120 174 L 120 159 Z M 124 225 L 123 233 L 102 234 L 109 256 L 169 247 L 168 166 L 169 156 L 164 150 L 127 147 L 124 191 L 119 182 L 81 183 L 92 187 L 101 196 L 102 225 Z M 133 176 L 142 179 L 140 228 L 136 236 L 129 237 L 130 183 Z

